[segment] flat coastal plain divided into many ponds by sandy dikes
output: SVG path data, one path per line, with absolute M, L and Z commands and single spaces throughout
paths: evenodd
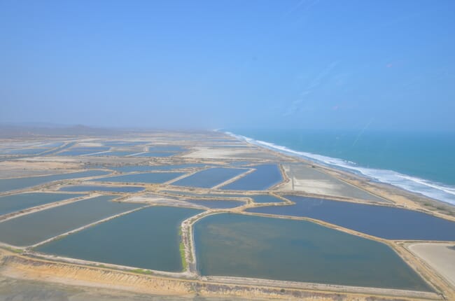
M 15 137 L 0 167 L 6 283 L 455 300 L 454 208 L 222 132 Z

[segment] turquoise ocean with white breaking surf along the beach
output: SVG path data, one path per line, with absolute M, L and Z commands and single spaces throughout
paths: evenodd
M 237 139 L 455 204 L 455 133 L 225 130 Z

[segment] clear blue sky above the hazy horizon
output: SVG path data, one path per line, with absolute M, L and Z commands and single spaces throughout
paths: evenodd
M 0 0 L 0 123 L 455 131 L 455 1 Z

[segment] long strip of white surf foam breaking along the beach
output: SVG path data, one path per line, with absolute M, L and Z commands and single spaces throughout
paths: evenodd
M 286 146 L 278 146 L 276 144 L 272 144 L 266 141 L 255 140 L 241 135 L 237 135 L 232 132 L 225 133 L 237 139 L 246 141 L 250 144 L 264 146 L 266 148 L 272 149 L 274 151 L 279 151 L 287 155 L 295 155 L 297 157 L 311 160 L 322 165 L 328 165 L 330 167 L 345 169 L 350 172 L 355 172 L 356 174 L 362 174 L 363 176 L 366 176 L 367 178 L 372 179 L 374 181 L 391 184 L 393 186 L 397 186 L 399 188 L 408 190 L 412 193 L 420 193 L 421 195 L 425 195 L 426 197 L 430 197 L 435 200 L 440 200 L 442 202 L 447 202 L 449 204 L 455 204 L 455 187 L 453 186 L 447 186 L 441 183 L 436 183 L 425 179 L 419 179 L 415 176 L 400 174 L 399 172 L 394 172 L 393 170 L 361 167 L 357 165 L 355 162 L 350 162 L 339 158 L 331 158 L 325 155 L 318 155 L 302 151 L 294 151 L 290 148 L 287 148 Z

